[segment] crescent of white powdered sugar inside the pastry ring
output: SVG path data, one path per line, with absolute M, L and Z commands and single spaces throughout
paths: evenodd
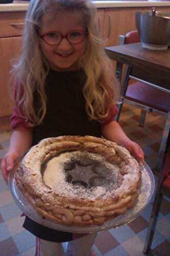
M 106 162 L 105 158 L 99 154 L 79 151 L 66 152 L 52 158 L 47 163 L 45 172 L 43 174 L 43 181 L 45 185 L 51 187 L 55 194 L 66 197 L 90 200 L 95 200 L 99 197 L 108 198 L 110 196 L 110 191 L 107 189 L 107 187 L 96 186 L 89 189 L 66 182 L 66 174 L 63 167 L 64 163 L 67 163 L 72 157 L 79 158 L 80 156 L 85 157 L 87 155 L 89 159 L 94 160 L 98 163 L 102 163 L 106 167 L 112 169 L 113 173 L 117 173 L 118 175 L 119 167 L 117 165 Z

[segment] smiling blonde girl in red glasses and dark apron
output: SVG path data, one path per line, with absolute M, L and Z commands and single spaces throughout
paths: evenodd
M 139 145 L 114 121 L 115 81 L 95 26 L 95 12 L 88 0 L 31 1 L 22 55 L 14 67 L 14 132 L 2 160 L 6 180 L 16 158 L 47 137 L 103 136 L 125 146 L 138 160 L 144 158 Z M 41 242 L 43 255 L 63 255 L 61 243 L 76 238 L 70 255 L 89 255 L 96 236 L 80 238 L 28 217 L 23 227 L 38 238 L 37 244 Z

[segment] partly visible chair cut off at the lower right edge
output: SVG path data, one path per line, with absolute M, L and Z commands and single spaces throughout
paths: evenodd
M 161 207 L 163 195 L 170 198 L 170 171 L 169 170 L 170 170 L 170 152 L 168 152 L 165 155 L 163 159 L 161 172 L 159 173 L 159 179 L 158 179 L 158 184 L 156 188 L 156 194 L 155 194 L 155 199 L 153 203 L 151 218 L 148 225 L 147 238 L 145 239 L 145 243 L 144 243 L 143 252 L 145 254 L 148 254 L 151 251 L 151 245 L 152 245 L 152 241 L 153 241 L 153 237 L 156 229 L 156 224 L 159 216 L 159 210 Z

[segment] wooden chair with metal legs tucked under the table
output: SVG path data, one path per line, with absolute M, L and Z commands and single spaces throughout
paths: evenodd
M 137 31 L 131 31 L 126 36 L 119 37 L 120 44 L 131 44 L 139 42 L 140 38 Z M 136 72 L 136 73 L 135 73 Z M 140 75 L 140 78 L 138 76 Z M 121 79 L 121 101 L 118 106 L 118 115 L 116 121 L 118 122 L 123 103 L 129 103 L 141 108 L 141 116 L 139 125 L 143 126 L 147 112 L 156 112 L 166 116 L 164 131 L 160 143 L 158 160 L 155 169 L 160 171 L 163 157 L 165 154 L 165 145 L 170 130 L 170 94 L 163 89 L 158 89 L 157 84 L 148 82 L 146 79 L 141 79 L 142 74 L 139 70 L 126 65 Z M 130 80 L 134 80 L 129 84 Z

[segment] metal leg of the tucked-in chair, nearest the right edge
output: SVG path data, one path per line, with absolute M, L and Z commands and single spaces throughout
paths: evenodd
M 165 155 L 169 131 L 170 131 L 170 111 L 167 113 L 164 131 L 163 131 L 163 135 L 162 135 L 162 139 L 159 147 L 158 160 L 156 161 L 156 165 L 155 165 L 155 170 L 157 170 L 158 172 L 160 172 L 163 157 Z

